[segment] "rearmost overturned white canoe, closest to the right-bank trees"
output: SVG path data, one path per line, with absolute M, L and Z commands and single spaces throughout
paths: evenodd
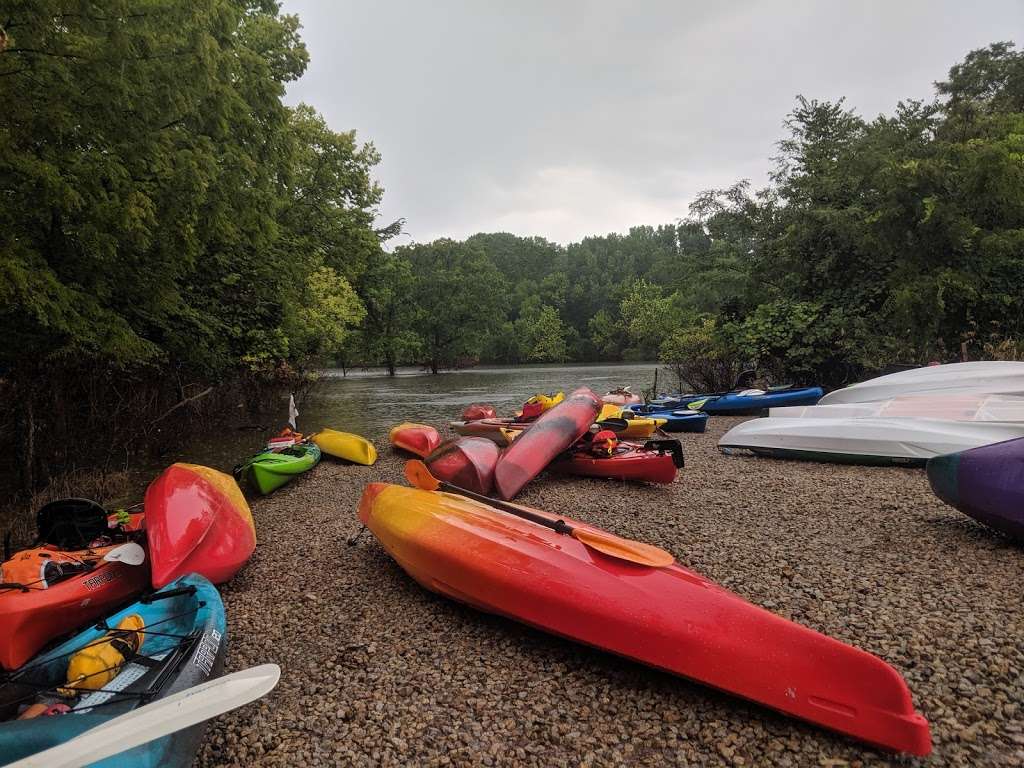
M 994 360 L 915 368 L 829 392 L 819 406 L 874 402 L 909 394 L 1024 395 L 1024 362 Z

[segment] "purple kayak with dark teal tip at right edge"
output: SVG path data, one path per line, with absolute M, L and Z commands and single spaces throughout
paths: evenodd
M 1024 437 L 929 459 L 928 481 L 946 504 L 1024 542 Z

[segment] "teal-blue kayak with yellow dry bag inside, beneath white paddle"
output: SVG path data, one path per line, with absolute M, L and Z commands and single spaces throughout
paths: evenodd
M 119 625 L 122 629 L 111 631 Z M 135 627 L 136 629 L 124 629 Z M 0 765 L 68 741 L 85 731 L 217 677 L 224 667 L 227 625 L 216 588 L 195 573 L 141 598 L 36 656 L 0 685 Z M 86 646 L 116 647 L 118 666 L 86 668 L 97 690 L 69 691 L 69 668 Z M 78 656 L 80 657 L 80 656 Z M 105 674 L 104 674 L 105 673 Z M 103 677 L 98 677 L 103 675 Z M 106 679 L 104 682 L 104 678 Z M 12 720 L 26 707 L 63 714 Z M 6 721 L 6 722 L 4 722 Z M 196 725 L 93 763 L 103 768 L 186 768 L 205 725 Z

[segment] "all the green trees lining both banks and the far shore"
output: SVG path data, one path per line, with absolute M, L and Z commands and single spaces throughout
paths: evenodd
M 327 365 L 657 357 L 716 386 L 746 364 L 836 384 L 1022 353 L 1011 43 L 893 116 L 798 99 L 769 186 L 706 191 L 677 222 L 394 247 L 374 146 L 283 101 L 308 62 L 296 16 L 126 8 L 0 18 L 0 433 L 24 487 Z

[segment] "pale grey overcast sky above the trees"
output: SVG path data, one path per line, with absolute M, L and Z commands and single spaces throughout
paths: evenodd
M 701 189 L 764 182 L 798 93 L 874 117 L 1024 43 L 1022 0 L 284 5 L 311 57 L 289 100 L 374 142 L 380 220 L 418 242 L 672 222 Z

